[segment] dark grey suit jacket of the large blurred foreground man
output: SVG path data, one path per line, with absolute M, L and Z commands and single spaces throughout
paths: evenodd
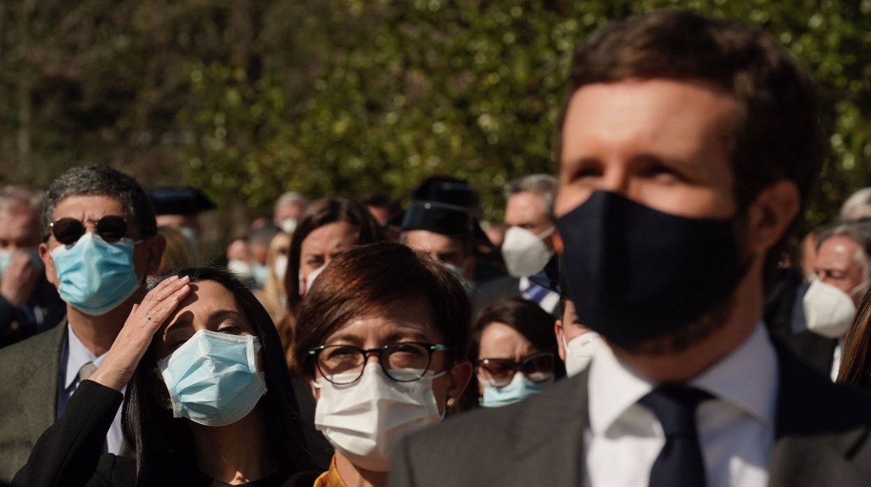
M 871 396 L 830 382 L 778 347 L 769 485 L 871 485 Z M 449 419 L 403 440 L 391 487 L 581 485 L 588 373 L 523 402 Z

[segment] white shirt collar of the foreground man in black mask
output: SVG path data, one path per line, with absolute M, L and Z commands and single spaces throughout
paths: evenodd
M 777 355 L 762 323 L 737 348 L 690 383 L 719 400 L 773 425 L 777 404 Z M 598 341 L 590 364 L 590 428 L 604 432 L 654 387 L 654 382 L 620 362 Z

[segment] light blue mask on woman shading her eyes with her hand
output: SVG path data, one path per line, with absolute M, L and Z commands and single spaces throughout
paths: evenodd
M 158 362 L 172 402 L 172 416 L 206 426 L 235 423 L 267 391 L 257 369 L 260 339 L 199 330 Z

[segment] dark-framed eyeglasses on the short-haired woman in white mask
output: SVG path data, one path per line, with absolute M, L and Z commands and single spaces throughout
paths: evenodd
M 444 353 L 448 347 L 437 343 L 400 342 L 381 348 L 360 348 L 354 345 L 323 345 L 308 350 L 317 368 L 327 381 L 334 384 L 356 382 L 363 375 L 366 358 L 378 355 L 378 362 L 389 378 L 396 382 L 420 380 L 429 370 L 433 354 Z

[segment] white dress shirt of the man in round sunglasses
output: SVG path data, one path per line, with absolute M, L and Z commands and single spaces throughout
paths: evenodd
M 81 340 L 73 333 L 71 326 L 66 326 L 66 339 L 61 347 L 60 361 L 60 381 L 58 382 L 57 391 L 57 417 L 64 414 L 66 403 L 70 401 L 73 392 L 78 388 L 78 370 L 85 363 L 93 362 L 97 367 L 103 363 L 105 354 L 97 356 L 91 350 L 84 346 Z M 121 389 L 121 394 L 126 390 Z M 106 443 L 104 450 L 109 453 L 118 455 L 121 450 L 121 443 L 124 441 L 124 434 L 121 432 L 121 408 L 115 413 L 115 419 L 111 422 L 109 432 L 106 434 Z

